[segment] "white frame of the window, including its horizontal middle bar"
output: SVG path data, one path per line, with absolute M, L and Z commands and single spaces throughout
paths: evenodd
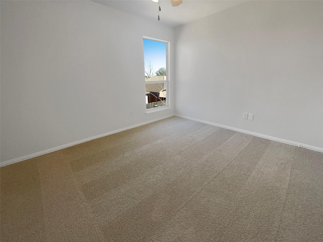
M 142 39 L 149 39 L 149 40 L 153 40 L 153 41 L 166 43 L 166 80 L 164 80 L 164 81 L 149 81 L 150 84 L 166 83 L 166 106 L 154 107 L 154 108 L 147 109 L 146 108 L 146 100 L 145 100 L 144 103 L 145 103 L 146 114 L 149 114 L 149 113 L 154 113 L 154 112 L 158 112 L 158 111 L 162 111 L 162 110 L 166 110 L 166 109 L 171 108 L 171 98 L 170 98 L 170 96 L 171 96 L 171 85 L 170 85 L 170 73 L 171 73 L 171 70 L 170 70 L 170 47 L 171 47 L 171 43 L 170 43 L 170 41 L 150 38 L 150 37 L 146 37 L 146 36 L 143 36 Z M 147 82 L 145 80 L 144 80 L 144 82 L 146 85 Z

